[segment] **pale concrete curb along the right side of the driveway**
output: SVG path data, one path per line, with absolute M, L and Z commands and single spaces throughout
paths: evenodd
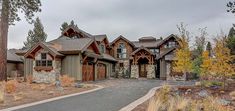
M 148 99 L 150 99 L 151 97 L 153 97 L 156 90 L 158 90 L 160 88 L 161 88 L 161 86 L 152 88 L 151 90 L 149 90 L 149 92 L 145 96 L 143 96 L 143 97 L 137 99 L 136 101 L 128 104 L 127 106 L 123 107 L 119 111 L 131 111 L 131 110 L 133 110 L 138 105 L 142 104 L 143 102 L 145 102 Z

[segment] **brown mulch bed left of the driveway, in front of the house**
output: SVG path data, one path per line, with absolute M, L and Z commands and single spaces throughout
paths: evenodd
M 3 104 L 0 104 L 0 109 L 41 101 L 53 97 L 79 93 L 96 88 L 96 86 L 94 85 L 87 85 L 86 87 L 82 88 L 76 88 L 71 86 L 63 87 L 63 89 L 58 89 L 55 87 L 55 85 L 44 84 L 43 86 L 45 87 L 42 88 L 39 87 L 40 85 L 42 84 L 18 83 L 16 93 L 5 94 L 5 101 Z M 20 94 L 21 99 L 15 100 L 15 94 Z

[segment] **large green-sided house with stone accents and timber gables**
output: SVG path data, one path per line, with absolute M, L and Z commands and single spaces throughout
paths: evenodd
M 129 41 L 119 36 L 111 43 L 106 35 L 91 35 L 69 26 L 61 36 L 40 42 L 24 54 L 24 74 L 36 82 L 54 82 L 60 75 L 78 81 L 110 76 L 171 79 L 178 38 L 142 37 Z

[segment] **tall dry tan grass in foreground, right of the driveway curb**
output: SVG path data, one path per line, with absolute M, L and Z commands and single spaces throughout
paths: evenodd
M 175 95 L 170 86 L 163 86 L 150 99 L 147 111 L 230 111 L 220 105 L 217 98 L 192 100 Z

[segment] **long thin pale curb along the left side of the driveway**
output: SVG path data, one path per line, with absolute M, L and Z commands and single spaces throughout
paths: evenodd
M 19 106 L 14 106 L 14 107 L 10 107 L 10 108 L 6 108 L 6 109 L 2 109 L 0 111 L 12 111 L 12 110 L 17 110 L 17 109 L 22 109 L 22 108 L 26 108 L 26 107 L 30 107 L 30 106 L 34 106 L 34 105 L 38 105 L 38 104 L 43 104 L 43 103 L 47 103 L 47 102 L 51 102 L 51 101 L 56 101 L 59 99 L 64 99 L 64 98 L 68 98 L 68 97 L 72 97 L 72 96 L 78 96 L 81 94 L 86 94 L 86 93 L 90 93 L 90 92 L 94 92 L 100 89 L 103 89 L 103 86 L 100 85 L 94 85 L 97 88 L 95 89 L 91 89 L 88 91 L 83 91 L 83 92 L 79 92 L 79 93 L 74 93 L 74 94 L 70 94 L 70 95 L 64 95 L 64 96 L 59 96 L 59 97 L 55 97 L 55 98 L 50 98 L 50 99 L 46 99 L 46 100 L 42 100 L 42 101 L 37 101 L 37 102 L 33 102 L 33 103 L 28 103 L 28 104 L 23 104 L 23 105 L 19 105 Z

